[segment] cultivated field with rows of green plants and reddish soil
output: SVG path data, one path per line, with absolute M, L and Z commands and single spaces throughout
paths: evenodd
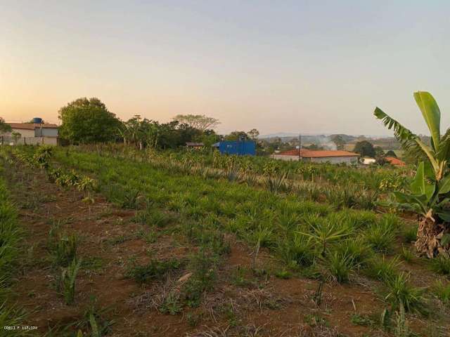
M 106 146 L 1 154 L 36 247 L 15 299 L 41 303 L 29 316 L 41 335 L 447 336 L 449 259 L 416 258 L 415 221 L 377 203 L 407 169 Z

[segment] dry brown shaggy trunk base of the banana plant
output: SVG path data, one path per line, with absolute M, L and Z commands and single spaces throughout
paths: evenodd
M 449 247 L 442 246 L 441 239 L 449 229 L 445 225 L 438 225 L 431 216 L 420 220 L 417 230 L 416 250 L 420 255 L 434 258 L 438 254 L 448 253 Z

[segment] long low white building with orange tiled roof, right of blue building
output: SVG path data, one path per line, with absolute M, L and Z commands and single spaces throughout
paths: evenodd
M 272 158 L 281 160 L 302 160 L 313 163 L 357 164 L 359 154 L 343 150 L 290 150 L 272 154 Z

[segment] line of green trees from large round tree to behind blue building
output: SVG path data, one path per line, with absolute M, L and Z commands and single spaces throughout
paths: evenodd
M 259 132 L 234 131 L 220 136 L 214 127 L 218 119 L 200 114 L 178 114 L 172 121 L 160 123 L 135 115 L 121 121 L 98 98 L 78 98 L 58 111 L 60 138 L 70 144 L 122 142 L 139 149 L 176 148 L 187 142 L 210 146 L 219 140 L 256 139 Z

